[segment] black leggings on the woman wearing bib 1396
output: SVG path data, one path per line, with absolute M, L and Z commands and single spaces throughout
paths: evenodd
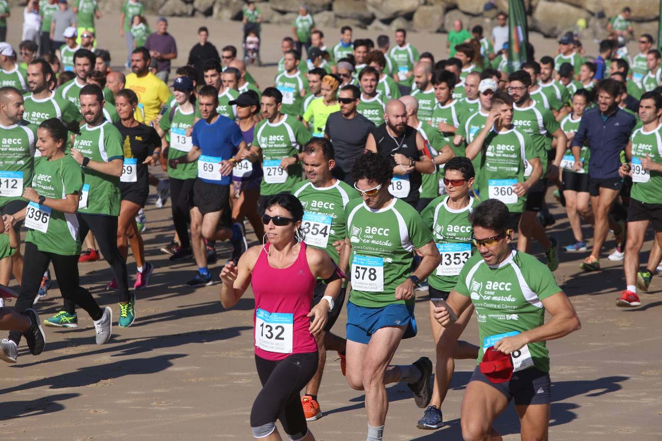
M 79 286 L 78 281 L 78 256 L 61 256 L 54 253 L 44 253 L 32 242 L 25 243 L 25 258 L 23 265 L 23 283 L 19 298 L 16 301 L 15 311 L 25 311 L 32 307 L 34 298 L 39 292 L 44 271 L 48 264 L 53 262 L 55 276 L 58 279 L 60 293 L 65 301 L 71 301 L 79 305 L 92 317 L 93 320 L 99 320 L 103 316 L 103 310 L 89 294 L 89 291 Z M 21 333 L 19 331 L 10 331 L 9 339 L 19 344 Z

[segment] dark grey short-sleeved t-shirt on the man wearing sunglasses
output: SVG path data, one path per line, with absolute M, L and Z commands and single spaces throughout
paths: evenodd
M 352 165 L 363 155 L 365 141 L 374 130 L 375 124 L 358 112 L 350 120 L 344 118 L 341 112 L 329 115 L 324 133 L 333 144 L 336 159 L 333 175 L 336 179 L 344 180 L 350 185 L 354 183 Z

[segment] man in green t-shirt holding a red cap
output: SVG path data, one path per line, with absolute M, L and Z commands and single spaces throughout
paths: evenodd
M 492 424 L 512 399 L 522 439 L 547 439 L 551 381 L 545 341 L 581 328 L 549 269 L 510 247 L 511 216 L 499 200 L 487 200 L 473 210 L 473 241 L 479 253 L 460 270 L 448 296 L 450 311 L 434 309 L 434 318 L 451 330 L 456 327 L 451 311 L 461 317 L 473 303 L 479 317 L 481 349 L 462 398 L 462 436 L 468 440 L 500 439 Z M 547 323 L 545 310 L 552 317 Z M 498 361 L 489 361 L 495 358 Z M 507 367 L 496 368 L 499 362 Z M 483 374 L 489 368 L 492 374 Z

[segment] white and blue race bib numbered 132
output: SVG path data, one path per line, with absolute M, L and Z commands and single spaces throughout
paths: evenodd
M 267 352 L 292 353 L 294 315 L 255 311 L 255 345 Z

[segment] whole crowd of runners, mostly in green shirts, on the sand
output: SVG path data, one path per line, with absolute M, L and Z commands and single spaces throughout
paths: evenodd
M 506 73 L 503 13 L 492 38 L 455 22 L 448 58 L 435 60 L 403 29 L 392 44 L 388 35 L 354 39 L 344 26 L 326 46 L 301 7 L 273 83 L 260 87 L 247 67 L 276 57 L 259 52 L 254 3 L 244 11 L 243 57 L 235 46 L 220 56 L 205 48 L 209 32 L 200 28 L 198 55 L 174 69 L 171 85 L 167 19 L 158 19 L 163 40 L 154 46 L 140 2 L 122 8 L 126 75 L 97 48 L 95 1 L 73 2 L 78 21 L 64 26 L 62 42 L 53 34 L 66 1 L 34 3 L 39 47 L 0 42 L 0 294 L 3 303 L 17 298 L 0 309 L 6 362 L 17 362 L 21 337 L 32 354 L 44 350 L 42 325 L 77 327 L 77 306 L 93 319 L 97 344 L 111 339 L 113 313 L 120 327 L 134 323 L 136 291 L 168 270 L 146 261 L 141 237 L 142 209 L 156 192 L 159 208 L 171 200 L 175 232 L 161 251 L 195 264 L 185 284 L 213 284 L 220 270 L 228 308 L 252 288 L 263 385 L 250 415 L 256 438 L 280 440 L 280 421 L 290 439 L 314 439 L 307 422 L 322 417 L 332 351 L 350 387 L 365 393 L 367 441 L 384 436 L 385 385 L 394 382 L 423 409 L 412 424 L 442 427 L 455 359 L 477 361 L 462 401 L 465 439 L 500 439 L 492 423 L 512 400 L 522 438 L 546 439 L 545 341 L 581 326 L 553 276 L 559 253 L 577 253 L 588 272 L 612 249 L 608 259 L 624 262 L 620 307 L 640 305 L 659 268 L 661 54 L 643 34 L 639 54 L 628 56 L 627 8 L 599 54 L 567 34 L 555 54 Z M 150 173 L 159 167 L 167 179 Z M 571 243 L 547 232 L 559 221 L 552 194 Z M 649 225 L 656 240 L 641 269 Z M 220 241 L 230 255 L 218 255 Z M 533 241 L 542 261 L 528 254 Z M 112 270 L 99 282 L 117 292 L 115 311 L 79 284 L 79 262 L 99 255 Z M 41 321 L 51 264 L 62 309 Z M 12 278 L 17 293 L 6 288 Z M 429 298 L 435 347 L 391 364 L 401 340 L 418 332 L 417 294 Z M 345 338 L 336 335 L 343 307 Z M 462 341 L 472 317 L 480 339 Z

